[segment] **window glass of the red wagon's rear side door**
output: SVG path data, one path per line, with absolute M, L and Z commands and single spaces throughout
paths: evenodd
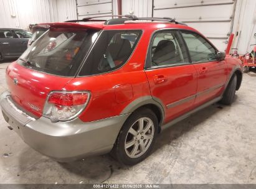
M 153 36 L 151 67 L 188 63 L 186 46 L 178 31 L 164 30 Z

